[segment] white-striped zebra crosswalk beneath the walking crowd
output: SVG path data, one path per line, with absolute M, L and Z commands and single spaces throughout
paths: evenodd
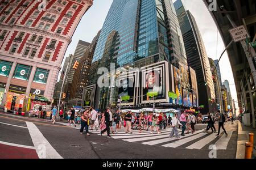
M 76 129 L 80 129 L 79 126 L 74 127 Z M 187 149 L 195 149 L 201 150 L 203 148 L 208 148 L 210 145 L 215 145 L 217 150 L 226 150 L 230 139 L 232 137 L 233 131 L 227 131 L 228 137 L 225 134 L 216 136 L 217 133 L 205 133 L 205 129 L 196 130 L 195 133 L 185 134 L 185 136 L 181 136 L 181 129 L 178 129 L 180 140 L 178 140 L 175 135 L 173 138 L 170 138 L 170 133 L 172 128 L 166 128 L 161 130 L 161 134 L 156 133 L 154 129 L 153 133 L 143 130 L 141 133 L 139 130 L 133 130 L 133 133 L 126 133 L 125 128 L 118 129 L 117 133 L 111 133 L 110 135 L 114 139 L 121 139 L 127 142 L 139 142 L 142 145 L 150 145 L 150 146 L 162 146 L 168 148 L 187 148 Z M 84 130 L 85 131 L 85 130 Z M 100 135 L 100 129 L 90 130 L 89 132 L 92 134 Z M 220 134 L 224 133 L 222 130 Z M 106 136 L 105 134 L 102 134 Z

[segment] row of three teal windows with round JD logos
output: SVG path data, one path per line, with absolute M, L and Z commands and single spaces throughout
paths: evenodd
M 13 62 L 3 61 L 0 59 L 0 75 L 9 77 L 11 67 L 13 67 Z M 17 63 L 15 66 L 13 78 L 26 80 L 30 79 L 31 70 L 33 66 L 22 65 Z M 36 68 L 33 82 L 46 84 L 49 75 L 49 70 Z

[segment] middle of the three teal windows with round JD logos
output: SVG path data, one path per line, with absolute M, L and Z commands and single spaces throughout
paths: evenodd
M 31 70 L 32 66 L 17 63 L 13 74 L 13 78 L 28 81 L 28 79 L 30 78 Z

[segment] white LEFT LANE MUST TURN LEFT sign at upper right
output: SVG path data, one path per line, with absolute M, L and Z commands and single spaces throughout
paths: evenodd
M 243 25 L 237 28 L 229 29 L 229 33 L 232 36 L 234 42 L 239 42 L 250 37 L 249 33 L 246 31 Z

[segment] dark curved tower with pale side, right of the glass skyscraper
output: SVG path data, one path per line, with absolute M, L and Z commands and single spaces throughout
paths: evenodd
M 185 10 L 181 0 L 174 3 L 180 29 L 183 35 L 188 66 L 196 71 L 197 86 L 199 89 L 199 105 L 204 105 L 201 111 L 213 112 L 215 99 L 214 84 L 210 64 L 196 20 L 188 10 Z

